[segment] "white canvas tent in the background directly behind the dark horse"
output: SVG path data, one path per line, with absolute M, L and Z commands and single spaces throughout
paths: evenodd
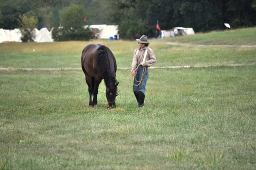
M 85 26 L 87 28 L 88 26 Z M 117 25 L 90 25 L 89 28 L 95 35 L 95 38 L 99 39 L 109 39 L 110 37 L 118 36 L 118 26 Z

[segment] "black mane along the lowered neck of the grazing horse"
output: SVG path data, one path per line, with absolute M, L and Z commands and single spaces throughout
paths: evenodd
M 105 81 L 105 84 L 109 84 L 110 82 L 117 82 L 115 79 L 115 75 L 112 75 L 111 72 L 111 66 L 109 63 L 109 52 L 107 47 L 105 46 L 101 46 L 97 49 L 97 65 L 98 65 L 98 69 L 101 70 L 102 72 L 102 77 Z M 114 68 L 112 68 L 114 69 Z

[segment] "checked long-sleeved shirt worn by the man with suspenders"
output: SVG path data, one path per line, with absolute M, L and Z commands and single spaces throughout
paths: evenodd
M 143 65 L 150 67 L 156 62 L 154 51 L 150 47 L 144 47 L 143 49 L 137 48 L 133 53 L 132 70 L 135 70 L 137 66 L 143 61 L 144 52 L 146 49 L 148 49 L 148 54 Z

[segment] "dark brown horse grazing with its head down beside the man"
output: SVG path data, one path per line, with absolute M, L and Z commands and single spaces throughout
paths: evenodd
M 117 64 L 114 54 L 101 44 L 89 44 L 82 51 L 82 69 L 89 90 L 89 106 L 97 105 L 98 88 L 102 79 L 106 85 L 108 108 L 116 107 Z M 93 96 L 93 100 L 92 100 Z

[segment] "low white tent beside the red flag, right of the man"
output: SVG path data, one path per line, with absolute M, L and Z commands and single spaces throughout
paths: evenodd
M 177 28 L 179 35 L 193 35 L 195 34 L 193 28 L 184 28 L 184 27 L 174 27 L 171 30 L 162 30 L 162 38 L 165 37 L 174 37 L 174 29 Z

